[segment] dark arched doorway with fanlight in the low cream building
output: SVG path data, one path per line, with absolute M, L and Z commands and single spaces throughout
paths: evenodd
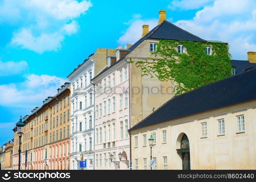
M 189 140 L 186 134 L 183 134 L 181 138 L 180 149 L 177 149 L 177 153 L 181 154 L 182 170 L 190 170 Z

